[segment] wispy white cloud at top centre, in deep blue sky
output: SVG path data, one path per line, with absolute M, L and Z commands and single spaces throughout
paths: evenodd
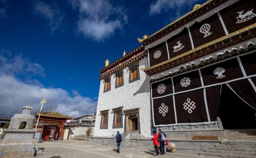
M 114 7 L 109 1 L 71 1 L 74 9 L 79 10 L 77 31 L 85 37 L 101 41 L 113 35 L 116 30 L 127 24 L 127 15 L 120 6 Z

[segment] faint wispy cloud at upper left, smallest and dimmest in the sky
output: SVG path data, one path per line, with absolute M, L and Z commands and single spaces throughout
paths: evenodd
M 56 5 L 36 2 L 34 3 L 34 11 L 48 20 L 52 32 L 60 28 L 64 16 Z

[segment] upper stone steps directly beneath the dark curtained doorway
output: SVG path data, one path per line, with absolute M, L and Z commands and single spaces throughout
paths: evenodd
M 256 129 L 229 129 L 225 134 L 229 140 L 256 140 Z

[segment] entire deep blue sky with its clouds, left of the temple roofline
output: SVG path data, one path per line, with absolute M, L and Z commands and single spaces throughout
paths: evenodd
M 0 0 L 0 117 L 24 105 L 92 114 L 99 70 L 205 1 Z

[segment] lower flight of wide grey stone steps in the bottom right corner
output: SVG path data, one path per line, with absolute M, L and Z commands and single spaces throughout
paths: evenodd
M 256 158 L 256 140 L 223 140 L 221 144 L 204 150 L 199 155 L 230 157 L 230 158 Z

